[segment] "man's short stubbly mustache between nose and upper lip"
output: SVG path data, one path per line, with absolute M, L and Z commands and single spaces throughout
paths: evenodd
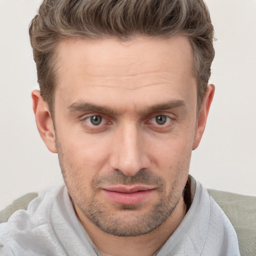
M 144 184 L 144 185 L 155 185 L 159 187 L 165 186 L 165 180 L 153 173 L 148 169 L 140 169 L 133 176 L 125 175 L 121 170 L 115 169 L 111 173 L 96 176 L 92 179 L 92 188 L 96 189 L 102 185 L 132 185 L 132 184 Z

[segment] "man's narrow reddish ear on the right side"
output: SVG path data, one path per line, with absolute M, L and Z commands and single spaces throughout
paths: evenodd
M 196 121 L 196 128 L 194 133 L 194 140 L 192 150 L 194 150 L 200 143 L 205 125 L 207 116 L 210 109 L 210 104 L 214 95 L 215 86 L 213 84 L 209 84 L 206 90 L 206 93 L 203 97 L 202 104 L 199 110 L 198 118 Z

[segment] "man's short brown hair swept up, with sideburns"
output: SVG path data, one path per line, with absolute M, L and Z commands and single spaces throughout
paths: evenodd
M 65 38 L 189 38 L 194 52 L 197 109 L 214 57 L 213 26 L 203 0 L 43 0 L 29 26 L 40 93 L 51 111 L 57 84 L 56 46 Z

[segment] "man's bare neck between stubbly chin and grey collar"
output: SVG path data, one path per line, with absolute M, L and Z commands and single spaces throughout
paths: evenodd
M 181 197 L 174 210 L 160 226 L 144 235 L 121 237 L 102 231 L 88 220 L 76 205 L 74 207 L 80 222 L 102 256 L 153 255 L 175 231 L 186 212 L 186 204 Z

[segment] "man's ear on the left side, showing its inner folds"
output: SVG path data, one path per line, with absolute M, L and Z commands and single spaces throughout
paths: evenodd
M 32 91 L 33 111 L 37 129 L 47 148 L 56 153 L 55 131 L 48 104 L 41 97 L 39 90 Z

